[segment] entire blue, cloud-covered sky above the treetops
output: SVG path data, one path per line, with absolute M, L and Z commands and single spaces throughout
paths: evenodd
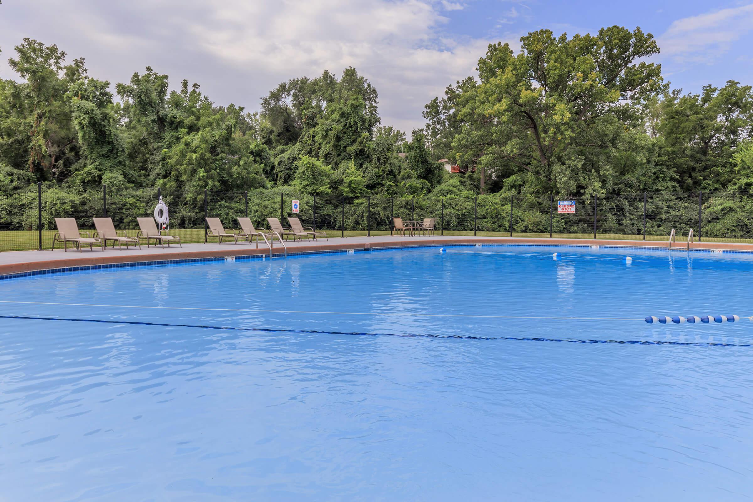
M 423 106 L 475 75 L 489 43 L 548 28 L 596 33 L 640 26 L 684 92 L 728 80 L 753 84 L 753 2 L 631 0 L 2 0 L 0 78 L 24 37 L 84 57 L 89 75 L 127 82 L 146 66 L 200 84 L 218 105 L 258 111 L 290 78 L 353 66 L 377 87 L 383 125 L 409 133 Z

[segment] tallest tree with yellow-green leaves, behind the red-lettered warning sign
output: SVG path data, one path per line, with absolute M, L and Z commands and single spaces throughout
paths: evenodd
M 535 175 L 544 190 L 590 190 L 593 176 L 583 149 L 603 147 L 590 132 L 599 129 L 602 117 L 664 89 L 660 65 L 643 60 L 659 52 L 656 41 L 639 28 L 619 26 L 573 38 L 541 29 L 520 41 L 517 56 L 498 43 L 479 59 L 480 84 L 468 83 L 470 96 L 458 98 L 470 108 L 459 111 L 459 119 L 471 126 L 460 129 L 466 138 L 453 141 L 487 145 L 475 152 L 481 168 L 512 163 Z M 495 132 L 479 137 L 474 123 L 492 124 Z

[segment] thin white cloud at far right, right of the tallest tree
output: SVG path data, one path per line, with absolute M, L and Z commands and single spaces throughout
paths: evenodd
M 727 52 L 753 30 L 753 4 L 676 20 L 657 41 L 661 53 L 679 61 L 703 62 Z

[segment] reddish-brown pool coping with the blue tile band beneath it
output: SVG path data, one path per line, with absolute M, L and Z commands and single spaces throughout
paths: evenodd
M 624 241 L 607 239 L 538 239 L 518 237 L 468 237 L 446 239 L 441 237 L 419 238 L 395 242 L 394 240 L 379 240 L 373 237 L 370 242 L 338 242 L 298 245 L 288 251 L 288 257 L 309 254 L 331 254 L 362 252 L 371 250 L 389 250 L 404 248 L 435 248 L 442 246 L 468 246 L 468 245 L 528 245 L 539 247 L 577 247 L 577 248 L 625 248 L 625 249 L 654 249 L 661 251 L 681 252 L 724 252 L 753 254 L 753 245 L 736 245 L 722 242 L 697 242 L 688 249 L 675 245 L 668 248 L 657 241 Z M 394 238 L 393 238 L 394 239 Z M 277 251 L 279 250 L 279 251 Z M 281 258 L 284 253 L 282 248 L 273 250 L 273 258 Z M 0 265 L 0 281 L 10 278 L 28 277 L 30 275 L 47 275 L 61 272 L 74 272 L 78 270 L 92 270 L 105 268 L 120 268 L 130 266 L 160 266 L 177 265 L 181 263 L 198 263 L 209 261 L 235 261 L 235 260 L 267 260 L 270 259 L 270 251 L 261 248 L 213 248 L 203 251 L 167 251 L 154 254 L 102 254 L 86 257 L 62 257 L 56 260 L 26 261 L 19 263 L 6 263 Z

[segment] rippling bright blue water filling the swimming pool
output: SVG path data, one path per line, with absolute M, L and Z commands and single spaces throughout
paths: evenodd
M 751 280 L 484 246 L 0 281 L 0 500 L 749 500 L 753 323 L 643 318 Z

